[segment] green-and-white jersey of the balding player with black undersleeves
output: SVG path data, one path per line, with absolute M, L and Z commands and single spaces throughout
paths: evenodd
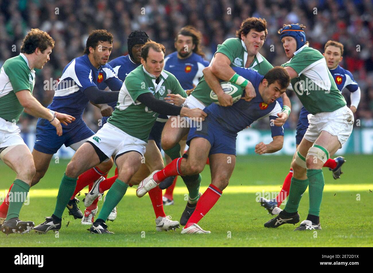
M 184 98 L 187 96 L 179 81 L 170 72 L 162 70 L 159 79 L 157 84 L 156 77 L 149 74 L 142 65 L 132 70 L 124 80 L 117 105 L 107 122 L 147 142 L 159 114 L 137 101 L 137 97 L 143 93 L 152 93 L 157 99 L 164 99 L 170 93 Z

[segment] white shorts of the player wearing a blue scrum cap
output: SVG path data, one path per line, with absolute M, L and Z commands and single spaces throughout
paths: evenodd
M 338 137 L 342 147 L 350 137 L 354 126 L 354 114 L 347 106 L 333 112 L 309 114 L 307 117 L 310 125 L 304 134 L 304 138 L 310 142 L 315 142 L 321 131 L 327 131 Z

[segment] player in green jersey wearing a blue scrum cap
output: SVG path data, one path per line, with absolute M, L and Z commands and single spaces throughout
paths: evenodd
M 299 222 L 298 206 L 308 186 L 308 216 L 295 230 L 321 229 L 322 167 L 350 137 L 354 123 L 352 111 L 346 106 L 324 56 L 308 46 L 304 28 L 296 24 L 284 25 L 279 30 L 286 56 L 291 58 L 282 66 L 290 74 L 292 89 L 311 114 L 308 115 L 308 129 L 292 162 L 294 174 L 285 209 L 264 224 L 267 228 Z

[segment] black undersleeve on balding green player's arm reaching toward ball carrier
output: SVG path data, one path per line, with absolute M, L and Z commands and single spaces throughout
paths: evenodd
M 184 90 L 183 90 L 184 91 Z M 142 104 L 161 115 L 180 115 L 181 107 L 156 99 L 152 93 L 142 93 L 137 97 Z

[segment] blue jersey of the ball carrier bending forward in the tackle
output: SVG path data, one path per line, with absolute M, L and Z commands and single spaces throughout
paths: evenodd
M 232 67 L 240 76 L 249 80 L 256 91 L 256 97 L 251 101 L 240 99 L 230 107 L 223 107 L 217 104 L 211 104 L 204 109 L 210 117 L 213 117 L 220 125 L 230 133 L 236 134 L 254 121 L 260 118 L 269 117 L 269 120 L 278 118 L 277 114 L 282 112 L 282 97 L 279 97 L 271 104 L 263 102 L 259 93 L 259 84 L 264 76 L 254 70 L 243 67 Z M 272 137 L 283 136 L 283 127 L 270 126 Z

